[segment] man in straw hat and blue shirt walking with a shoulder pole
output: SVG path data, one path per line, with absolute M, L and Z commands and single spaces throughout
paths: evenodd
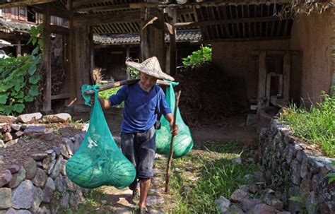
M 126 61 L 127 66 L 140 71 L 140 81 L 125 85 L 108 100 L 99 97 L 103 109 L 124 102 L 124 118 L 121 125 L 122 153 L 136 167 L 136 179 L 129 186 L 133 197 L 140 193 L 139 210 L 145 213 L 146 196 L 153 177 L 155 158 L 155 122 L 162 113 L 170 122 L 171 133 L 177 135 L 178 128 L 173 126 L 171 109 L 165 100 L 163 90 L 155 85 L 158 79 L 174 81 L 172 76 L 163 73 L 156 57 L 137 63 Z M 139 179 L 139 182 L 138 182 Z

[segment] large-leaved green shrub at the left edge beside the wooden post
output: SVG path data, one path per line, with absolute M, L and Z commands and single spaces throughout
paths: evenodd
M 41 25 L 31 28 L 29 42 L 36 45 L 31 55 L 0 59 L 0 113 L 23 112 L 25 103 L 33 102 L 40 95 L 41 79 L 37 67 L 41 61 L 43 42 L 40 39 Z

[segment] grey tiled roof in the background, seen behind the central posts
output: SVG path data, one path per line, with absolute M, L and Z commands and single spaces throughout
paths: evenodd
M 139 33 L 127 34 L 111 34 L 111 35 L 93 35 L 95 44 L 139 44 Z M 165 34 L 165 42 L 168 42 L 169 35 Z M 197 42 L 201 40 L 201 32 L 199 30 L 178 30 L 177 42 Z

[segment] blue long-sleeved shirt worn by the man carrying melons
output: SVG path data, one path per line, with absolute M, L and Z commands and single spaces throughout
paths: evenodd
M 121 131 L 135 133 L 147 131 L 157 120 L 157 114 L 171 113 L 165 100 L 165 94 L 158 85 L 149 92 L 141 88 L 139 83 L 124 85 L 115 95 L 110 96 L 110 104 L 119 105 L 124 101 Z

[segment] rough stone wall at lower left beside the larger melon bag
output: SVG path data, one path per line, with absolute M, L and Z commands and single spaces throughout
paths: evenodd
M 44 119 L 46 119 L 45 117 Z M 50 117 L 49 119 L 54 119 Z M 49 120 L 50 122 L 50 120 Z M 1 124 L 0 124 L 1 125 Z M 49 142 L 52 132 L 40 124 L 2 124 L 0 130 L 13 133 L 11 129 L 22 131 L 23 138 L 38 136 Z M 2 132 L 1 131 L 1 132 Z M 15 132 L 15 133 L 16 133 Z M 61 138 L 57 146 L 42 153 L 29 153 L 21 164 L 4 164 L 4 156 L 0 155 L 0 214 L 6 213 L 62 213 L 74 209 L 83 202 L 88 189 L 83 189 L 66 177 L 65 165 L 67 160 L 78 150 L 83 141 L 85 131 L 72 137 Z M 12 140 L 13 141 L 13 140 Z M 16 138 L 18 141 L 18 138 Z M 13 150 L 4 142 L 5 150 Z M 22 142 L 17 142 L 22 143 Z M 1 148 L 0 148 L 1 149 Z M 29 150 L 27 146 L 27 150 Z M 22 154 L 18 154 L 22 155 Z M 15 160 L 15 155 L 11 156 Z

